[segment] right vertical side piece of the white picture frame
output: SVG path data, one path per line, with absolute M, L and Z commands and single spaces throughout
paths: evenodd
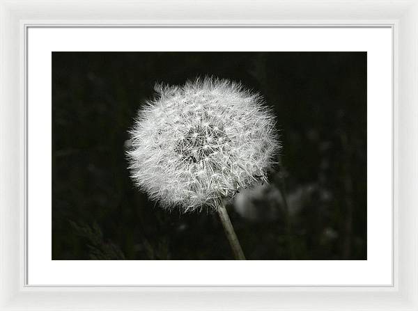
M 398 278 L 418 310 L 418 3 L 400 19 L 398 43 Z

